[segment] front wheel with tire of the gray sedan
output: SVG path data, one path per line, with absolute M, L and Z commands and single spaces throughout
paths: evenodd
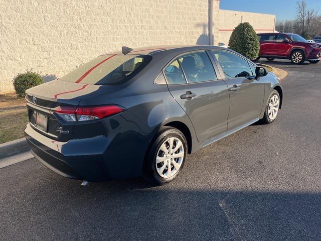
M 280 95 L 279 92 L 273 90 L 268 98 L 265 106 L 265 112 L 263 118 L 260 120 L 262 124 L 271 124 L 275 121 L 278 110 L 280 108 Z M 272 113 L 273 112 L 273 113 Z

